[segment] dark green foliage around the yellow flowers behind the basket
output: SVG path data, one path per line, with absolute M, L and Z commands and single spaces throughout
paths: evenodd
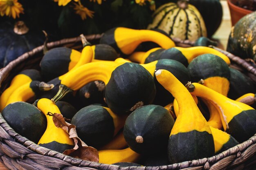
M 103 33 L 116 26 L 133 29 L 146 29 L 152 21 L 154 11 L 150 10 L 150 3 L 139 5 L 135 0 L 102 0 L 102 4 L 81 0 L 81 4 L 94 11 L 93 18 L 87 16 L 85 20 L 76 14 L 73 0 L 65 7 L 58 6 L 53 0 L 18 0 L 24 8 L 24 14 L 16 20 L 23 20 L 30 29 L 45 30 L 50 40 L 79 36 L 81 33 Z M 156 5 L 164 0 L 155 0 Z M 1 19 L 13 21 L 13 18 Z

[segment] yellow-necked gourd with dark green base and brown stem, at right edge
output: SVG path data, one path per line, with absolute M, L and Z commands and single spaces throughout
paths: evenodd
M 243 142 L 256 133 L 256 110 L 251 106 L 228 97 L 199 83 L 187 84 L 191 94 L 211 102 L 221 113 L 222 126 L 238 142 Z

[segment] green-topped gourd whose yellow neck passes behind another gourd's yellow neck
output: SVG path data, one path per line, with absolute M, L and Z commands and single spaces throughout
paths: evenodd
M 227 63 L 222 58 L 213 54 L 203 54 L 196 57 L 188 66 L 191 80 L 193 82 L 203 82 L 214 91 L 227 96 L 229 91 L 230 71 Z M 214 128 L 222 129 L 222 123 L 218 110 L 206 102 L 210 112 L 208 124 Z

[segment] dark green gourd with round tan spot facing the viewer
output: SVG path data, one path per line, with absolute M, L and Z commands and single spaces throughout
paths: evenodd
M 126 119 L 124 138 L 137 153 L 157 153 L 166 150 L 173 124 L 173 117 L 164 107 L 141 106 Z

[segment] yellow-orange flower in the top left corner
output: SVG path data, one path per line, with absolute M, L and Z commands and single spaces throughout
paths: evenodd
M 0 0 L 0 15 L 12 16 L 12 18 L 20 17 L 23 12 L 22 4 L 18 0 Z

